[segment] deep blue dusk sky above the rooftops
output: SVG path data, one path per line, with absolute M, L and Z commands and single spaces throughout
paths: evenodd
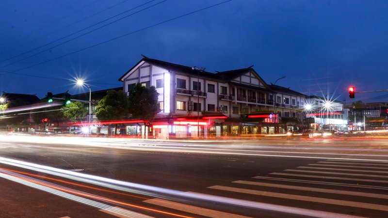
M 307 95 L 388 101 L 387 0 L 12 0 L 0 7 L 0 92 L 122 86 L 149 58 L 253 68 Z

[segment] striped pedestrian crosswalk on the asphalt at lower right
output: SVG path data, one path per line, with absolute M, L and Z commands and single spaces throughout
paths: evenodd
M 268 217 L 268 214 L 273 217 L 289 217 L 287 214 L 324 218 L 387 217 L 388 157 L 346 155 L 342 158 L 207 187 L 213 195 L 250 202 L 246 210 L 221 212 L 211 204 L 204 208 L 162 199 L 144 202 L 204 217 Z M 263 211 L 266 211 L 264 215 Z

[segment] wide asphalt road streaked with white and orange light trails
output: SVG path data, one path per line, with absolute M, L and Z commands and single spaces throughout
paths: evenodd
M 0 217 L 387 217 L 386 141 L 0 136 Z

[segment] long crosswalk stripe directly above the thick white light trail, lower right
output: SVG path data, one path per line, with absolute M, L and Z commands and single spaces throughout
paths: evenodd
M 266 197 L 284 198 L 288 200 L 292 199 L 292 200 L 305 201 L 305 202 L 318 202 L 318 203 L 335 204 L 335 205 L 341 205 L 341 206 L 350 206 L 350 207 L 365 208 L 365 209 L 372 209 L 372 210 L 388 211 L 388 206 L 373 204 L 373 203 L 350 202 L 350 201 L 343 201 L 343 200 L 336 200 L 336 199 L 317 198 L 317 197 L 309 197 L 309 196 L 302 196 L 302 195 L 291 195 L 291 194 L 283 194 L 283 193 L 270 192 L 270 191 L 259 191 L 259 190 L 226 187 L 226 186 L 212 186 L 209 188 L 239 192 L 244 194 L 260 195 L 260 196 L 266 196 Z

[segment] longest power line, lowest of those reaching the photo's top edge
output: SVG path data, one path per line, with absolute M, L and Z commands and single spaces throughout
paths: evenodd
M 121 35 L 121 36 L 117 36 L 117 37 L 115 37 L 115 38 L 112 38 L 112 39 L 109 39 L 109 40 L 106 40 L 106 41 L 97 43 L 97 44 L 95 44 L 95 45 L 93 45 L 93 46 L 84 47 L 84 48 L 82 48 L 82 49 L 80 49 L 80 50 L 76 50 L 76 51 L 67 53 L 67 54 L 65 54 L 65 55 L 61 55 L 61 56 L 58 56 L 58 57 L 56 57 L 56 58 L 52 58 L 52 59 L 49 59 L 49 60 L 44 61 L 44 62 L 36 63 L 36 64 L 30 65 L 30 66 L 27 66 L 27 67 L 23 67 L 23 68 L 20 68 L 20 69 L 11 71 L 11 72 L 13 73 L 13 72 L 20 71 L 20 70 L 24 70 L 24 69 L 28 69 L 28 68 L 31 68 L 31 67 L 34 67 L 34 66 L 43 64 L 43 63 L 47 63 L 47 62 L 50 62 L 50 61 L 54 61 L 54 60 L 57 60 L 57 59 L 66 57 L 66 56 L 68 56 L 68 55 L 72 55 L 72 54 L 78 53 L 78 52 L 80 52 L 80 51 L 83 51 L 83 50 L 86 50 L 86 49 L 89 49 L 89 48 L 92 48 L 92 47 L 96 47 L 96 46 L 99 46 L 99 45 L 102 45 L 102 44 L 111 42 L 111 41 L 113 41 L 113 40 L 116 40 L 116 39 L 119 39 L 119 38 L 128 36 L 128 35 L 130 35 L 130 34 L 133 34 L 133 33 L 139 32 L 139 31 L 144 31 L 144 30 L 146 30 L 146 29 L 149 29 L 149 28 L 152 28 L 152 27 L 161 25 L 161 24 L 163 24 L 163 23 L 167 23 L 167 22 L 176 20 L 176 19 L 181 18 L 181 17 L 184 17 L 184 16 L 189 16 L 189 15 L 192 15 L 192 14 L 194 14 L 194 13 L 198 13 L 198 12 L 200 12 L 200 11 L 204 11 L 204 10 L 206 10 L 206 9 L 209 9 L 209 8 L 212 8 L 212 7 L 215 7 L 215 6 L 219 6 L 219 5 L 224 4 L 224 3 L 226 3 L 226 2 L 229 2 L 229 1 L 232 1 L 232 0 L 226 0 L 226 1 L 223 1 L 223 2 L 220 2 L 220 3 L 217 3 L 217 4 L 210 5 L 210 6 L 205 7 L 205 8 L 202 8 L 202 9 L 199 9 L 199 10 L 196 10 L 196 11 L 193 11 L 193 12 L 190 12 L 190 13 L 187 13 L 187 14 L 184 14 L 184 15 L 181 15 L 181 16 L 176 16 L 176 17 L 174 17 L 174 18 L 171 18 L 171 19 L 168 19 L 168 20 L 164 20 L 164 21 L 162 21 L 162 22 L 159 22 L 159 23 L 150 25 L 150 26 L 148 26 L 148 27 L 141 28 L 141 29 L 138 29 L 138 30 L 136 30 L 136 31 L 132 31 L 132 32 L 129 32 L 129 33 L 127 33 L 127 34 L 124 34 L 124 35 Z M 5 72 L 4 74 L 1 74 L 1 75 L 5 75 L 5 74 L 8 74 L 8 73 L 11 73 L 11 72 L 7 72 L 7 71 L 1 71 L 1 72 Z M 0 75 L 0 76 L 1 76 L 1 75 Z

